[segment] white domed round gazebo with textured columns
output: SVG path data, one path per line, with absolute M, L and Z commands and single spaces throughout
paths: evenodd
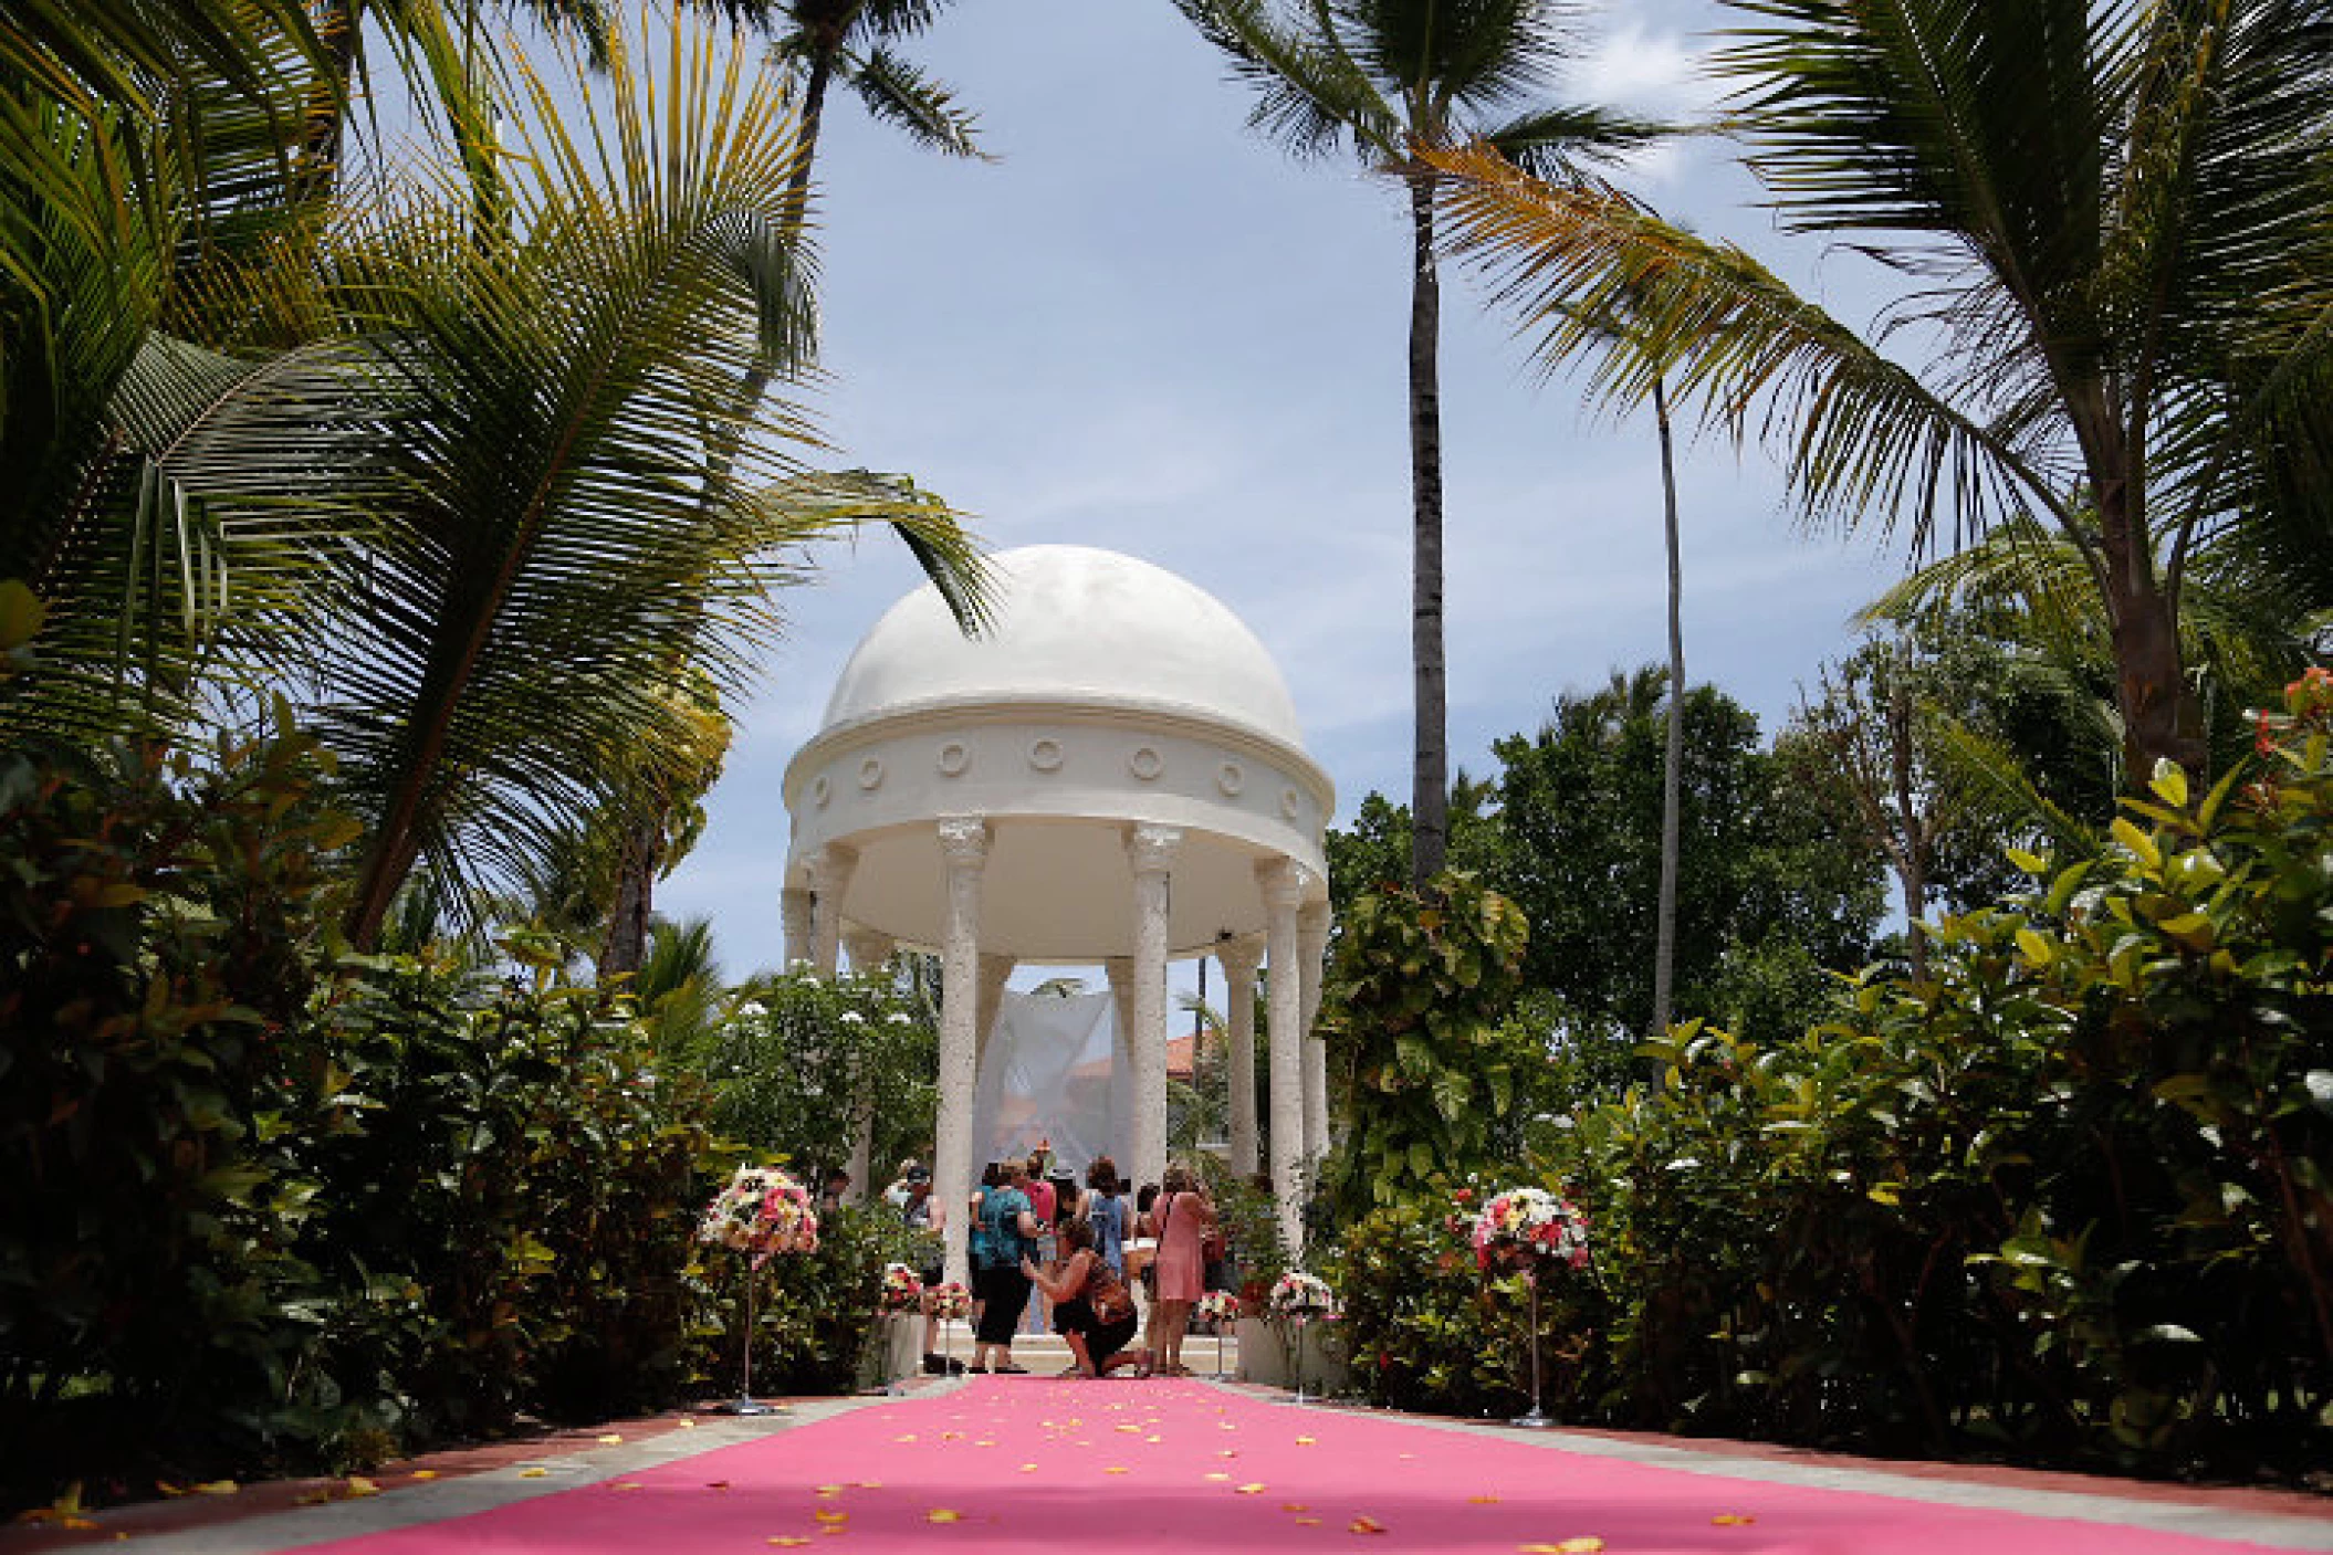
M 978 1063 L 1020 963 L 1101 963 L 1132 1063 L 1136 1182 L 1166 1166 L 1166 963 L 1225 970 L 1232 1168 L 1255 1159 L 1255 974 L 1271 968 L 1271 1180 L 1327 1149 L 1320 1042 L 1327 774 L 1278 667 L 1229 608 L 1111 550 L 994 557 L 996 618 L 966 639 L 922 587 L 852 653 L 786 767 L 789 958 L 833 974 L 894 947 L 943 956 L 936 1201 L 961 1271 Z M 1295 1040 L 1295 1033 L 1306 1033 Z M 854 1184 L 868 1182 L 861 1119 Z

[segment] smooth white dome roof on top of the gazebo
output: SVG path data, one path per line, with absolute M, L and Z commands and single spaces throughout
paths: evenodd
M 992 557 L 996 620 L 966 641 L 924 585 L 861 639 L 821 734 L 950 706 L 1162 709 L 1304 748 L 1278 664 L 1220 599 L 1115 550 L 1024 546 Z

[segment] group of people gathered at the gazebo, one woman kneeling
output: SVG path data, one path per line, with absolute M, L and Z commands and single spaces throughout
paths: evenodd
M 1118 1163 L 1099 1156 L 1080 1187 L 1048 1173 L 1050 1156 L 994 1161 L 971 1203 L 973 1371 L 1024 1373 L 1013 1364 L 1013 1334 L 1031 1292 L 1052 1310 L 1052 1329 L 1076 1357 L 1073 1373 L 1099 1378 L 1132 1368 L 1136 1375 L 1190 1375 L 1183 1336 L 1206 1289 L 1215 1205 L 1194 1173 L 1169 1166 L 1164 1182 L 1132 1194 Z M 896 1194 L 896 1196 L 894 1196 Z M 887 1194 L 908 1224 L 933 1224 L 931 1173 L 908 1163 Z M 938 1285 L 940 1271 L 926 1271 Z M 1141 1348 L 1141 1308 L 1134 1287 L 1150 1296 L 1150 1331 Z M 924 1371 L 961 1371 L 936 1352 L 926 1322 Z M 1069 1375 L 1069 1373 L 1064 1373 Z

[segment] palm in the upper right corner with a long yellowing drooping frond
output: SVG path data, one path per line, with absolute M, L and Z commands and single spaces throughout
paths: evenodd
M 1556 310 L 1626 296 L 1605 350 L 1785 445 L 1813 520 L 1911 527 L 1915 553 L 2006 518 L 2081 557 L 2111 643 L 2132 781 L 2202 765 L 2179 620 L 2223 532 L 2333 536 L 2333 98 L 2321 0 L 1733 0 L 1722 56 L 1785 226 L 1918 277 L 1892 322 L 1915 373 L 1745 252 L 1491 147 L 1451 175 L 1474 254 L 1547 359 L 1593 347 Z M 1600 350 L 1600 347 L 1598 347 Z

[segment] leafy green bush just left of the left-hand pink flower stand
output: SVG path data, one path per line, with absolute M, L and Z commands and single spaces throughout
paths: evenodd
M 712 1138 L 611 993 L 350 965 L 322 1030 L 341 1128 L 303 1250 L 345 1292 L 322 1364 L 413 1441 L 665 1403 Z

